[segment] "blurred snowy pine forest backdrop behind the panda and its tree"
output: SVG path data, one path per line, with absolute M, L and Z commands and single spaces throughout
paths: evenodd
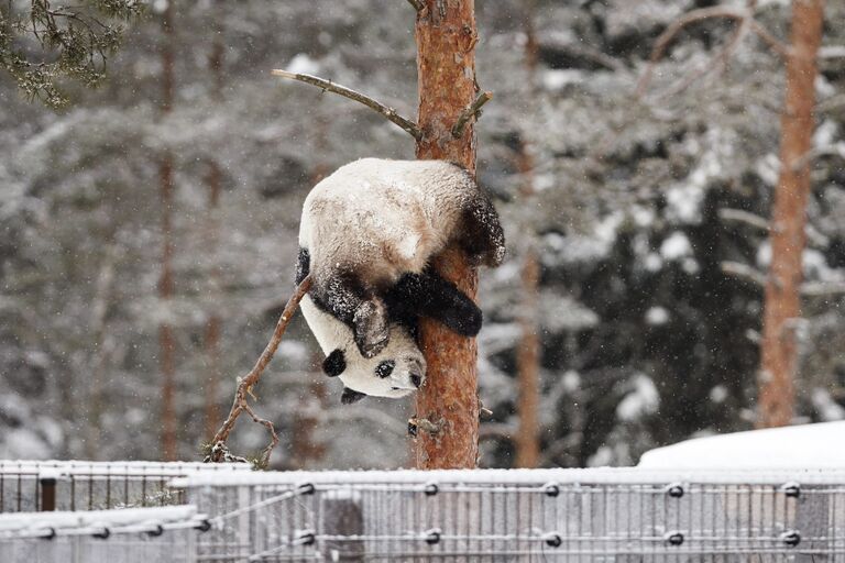
M 480 273 L 480 466 L 759 426 L 793 3 L 475 2 L 478 179 L 507 238 Z M 309 189 L 415 156 L 271 71 L 413 117 L 414 4 L 155 0 L 55 89 L 10 55 L 44 56 L 10 36 L 30 2 L 0 7 L 0 459 L 201 460 L 294 289 Z M 791 422 L 845 419 L 845 2 L 823 15 Z M 341 405 L 322 358 L 297 316 L 252 401 L 272 466 L 411 466 L 414 400 Z M 242 420 L 231 445 L 265 442 Z

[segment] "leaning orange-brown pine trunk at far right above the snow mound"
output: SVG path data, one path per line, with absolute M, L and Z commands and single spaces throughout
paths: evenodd
M 823 12 L 822 0 L 792 2 L 792 45 L 781 117 L 780 178 L 771 220 L 771 266 L 762 325 L 757 421 L 760 428 L 789 424 L 794 407 L 798 356 L 794 323 L 801 316 L 799 287 L 810 195 L 810 163 L 797 164 L 811 148 L 815 58 L 822 38 Z

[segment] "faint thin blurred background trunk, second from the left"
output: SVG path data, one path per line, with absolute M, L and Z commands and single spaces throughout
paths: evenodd
M 208 55 L 208 68 L 211 73 L 211 99 L 218 104 L 223 98 L 223 30 L 221 19 L 215 18 L 215 36 L 211 40 L 211 52 Z M 219 302 L 220 297 L 220 271 L 217 266 L 217 244 L 220 236 L 220 224 L 218 214 L 220 212 L 220 180 L 222 173 L 220 165 L 213 158 L 207 163 L 208 174 L 206 175 L 206 186 L 208 187 L 208 209 L 207 209 L 207 254 L 211 264 L 209 272 L 212 305 Z M 217 431 L 217 424 L 221 420 L 220 401 L 218 398 L 218 387 L 220 382 L 220 316 L 216 311 L 208 311 L 206 320 L 206 331 L 204 338 L 206 367 L 208 369 L 202 383 L 205 387 L 205 408 L 204 408 L 204 428 L 205 439 L 210 440 Z

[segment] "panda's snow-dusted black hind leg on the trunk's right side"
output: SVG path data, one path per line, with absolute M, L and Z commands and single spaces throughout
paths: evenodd
M 493 202 L 478 188 L 468 199 L 459 231 L 459 242 L 474 266 L 496 267 L 505 260 L 505 233 Z

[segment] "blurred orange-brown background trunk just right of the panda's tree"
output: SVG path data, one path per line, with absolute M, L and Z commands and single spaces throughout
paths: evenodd
M 525 11 L 525 70 L 528 79 L 527 106 L 533 111 L 537 103 L 535 75 L 537 70 L 537 33 L 534 27 L 534 0 L 524 0 Z M 525 128 L 529 130 L 529 128 Z M 527 131 L 519 143 L 519 173 L 523 176 L 522 195 L 526 205 L 534 195 L 534 157 Z M 525 255 L 523 257 L 522 305 L 519 324 L 523 332 L 516 351 L 516 369 L 519 382 L 519 429 L 516 435 L 516 466 L 537 467 L 540 461 L 540 435 L 537 415 L 540 407 L 540 338 L 538 329 L 538 291 L 540 263 L 537 256 L 536 234 L 528 224 L 523 225 Z

